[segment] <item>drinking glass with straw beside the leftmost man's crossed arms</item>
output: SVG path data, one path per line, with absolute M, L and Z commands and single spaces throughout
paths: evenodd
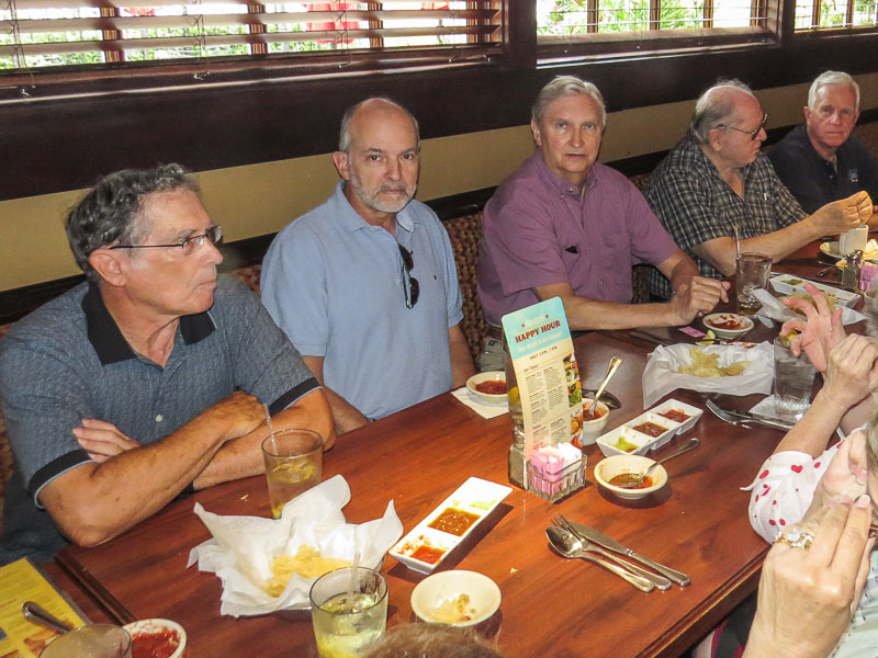
M 323 438 L 311 430 L 280 430 L 262 441 L 271 515 L 281 518 L 284 503 L 319 484 Z

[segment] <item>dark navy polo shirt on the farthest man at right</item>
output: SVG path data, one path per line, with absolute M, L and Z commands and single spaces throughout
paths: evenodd
M 770 148 L 768 159 L 808 214 L 863 190 L 878 203 L 878 159 L 855 135 L 836 149 L 835 162 L 830 162 L 817 152 L 801 124 Z

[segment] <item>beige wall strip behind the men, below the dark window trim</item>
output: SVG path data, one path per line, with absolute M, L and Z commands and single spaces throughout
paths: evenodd
M 863 110 L 878 107 L 878 73 L 857 78 Z M 768 126 L 801 121 L 807 84 L 761 91 Z M 693 101 L 612 113 L 601 160 L 665 150 L 686 129 Z M 658 121 L 657 121 L 658 120 Z M 531 151 L 528 126 L 427 139 L 418 198 L 430 200 L 499 183 Z M 199 173 L 204 203 L 226 240 L 274 232 L 322 203 L 337 175 L 329 155 Z M 78 274 L 63 217 L 81 190 L 0 202 L 0 291 Z M 23 217 L 26 223 L 21 222 Z M 22 227 L 26 226 L 26 230 Z

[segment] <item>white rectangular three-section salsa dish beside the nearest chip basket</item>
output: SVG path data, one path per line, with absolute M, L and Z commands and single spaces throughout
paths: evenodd
M 458 487 L 451 496 L 434 508 L 424 521 L 418 523 L 408 534 L 399 540 L 399 542 L 391 548 L 390 554 L 409 569 L 421 574 L 431 574 L 436 567 L 442 564 L 446 557 L 475 530 L 485 517 L 494 511 L 494 508 L 496 508 L 511 490 L 511 487 L 505 487 L 477 477 L 471 477 Z M 430 523 L 448 508 L 454 508 L 462 512 L 475 514 L 479 518 L 474 523 L 471 523 L 466 532 L 460 536 L 430 527 Z M 435 563 L 414 557 L 414 555 L 425 546 L 439 553 Z

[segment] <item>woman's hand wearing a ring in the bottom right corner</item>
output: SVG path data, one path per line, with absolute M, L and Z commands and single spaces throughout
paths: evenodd
M 768 552 L 745 657 L 822 658 L 851 623 L 869 572 L 871 501 L 836 503 L 807 518 L 810 548 Z M 789 531 L 787 531 L 789 534 Z

